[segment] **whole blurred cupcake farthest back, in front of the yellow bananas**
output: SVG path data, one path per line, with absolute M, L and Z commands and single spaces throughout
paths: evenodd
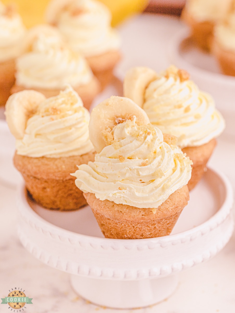
M 83 54 L 93 73 L 105 87 L 121 58 L 120 38 L 111 28 L 111 12 L 96 0 L 52 0 L 47 22 L 58 27 L 70 47 Z

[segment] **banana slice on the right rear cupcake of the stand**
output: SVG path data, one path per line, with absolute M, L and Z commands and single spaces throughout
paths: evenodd
M 142 107 L 145 90 L 157 77 L 157 73 L 148 67 L 140 66 L 129 69 L 123 82 L 124 97 L 132 99 L 136 104 Z

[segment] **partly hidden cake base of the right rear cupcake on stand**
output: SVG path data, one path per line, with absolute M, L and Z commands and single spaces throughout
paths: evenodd
M 197 183 L 201 180 L 205 170 L 207 162 L 212 155 L 212 152 L 217 144 L 216 139 L 196 147 L 185 147 L 182 149 L 184 153 L 192 160 L 192 176 L 188 182 L 188 189 L 192 190 Z

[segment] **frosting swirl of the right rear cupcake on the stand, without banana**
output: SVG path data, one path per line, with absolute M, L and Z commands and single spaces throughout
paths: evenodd
M 182 81 L 174 69 L 175 73 L 167 70 L 148 85 L 143 109 L 153 125 L 178 138 L 181 148 L 201 146 L 222 133 L 224 119 L 212 97 L 191 80 Z

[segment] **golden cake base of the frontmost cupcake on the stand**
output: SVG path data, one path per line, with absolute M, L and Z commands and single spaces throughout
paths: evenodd
M 83 193 L 106 238 L 143 239 L 169 235 L 189 200 L 188 187 L 183 186 L 153 208 L 136 208 L 99 200 L 93 193 Z

